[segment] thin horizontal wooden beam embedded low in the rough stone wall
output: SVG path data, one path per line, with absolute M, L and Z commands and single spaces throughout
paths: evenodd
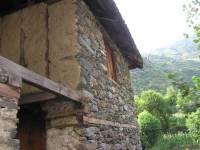
M 133 124 L 120 124 L 118 122 L 112 122 L 107 120 L 101 120 L 97 118 L 91 118 L 87 116 L 83 116 L 83 123 L 84 124 L 96 124 L 96 125 L 106 125 L 106 126 L 114 126 L 119 128 L 136 128 Z

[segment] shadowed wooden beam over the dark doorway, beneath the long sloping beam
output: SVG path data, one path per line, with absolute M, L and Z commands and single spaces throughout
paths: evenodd
M 58 96 L 49 92 L 35 92 L 24 94 L 21 96 L 19 100 L 19 105 L 36 103 L 36 102 L 44 102 L 48 100 L 56 99 Z

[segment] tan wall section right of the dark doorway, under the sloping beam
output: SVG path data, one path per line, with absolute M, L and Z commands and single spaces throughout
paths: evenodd
M 80 149 L 81 128 L 76 117 L 80 106 L 57 99 L 43 104 L 47 112 L 47 150 Z

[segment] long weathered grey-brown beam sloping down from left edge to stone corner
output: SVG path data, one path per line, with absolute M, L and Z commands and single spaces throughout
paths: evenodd
M 29 69 L 24 68 L 2 56 L 0 56 L 0 68 L 22 78 L 23 81 L 35 87 L 67 97 L 76 102 L 81 102 L 81 97 L 78 91 L 30 71 Z

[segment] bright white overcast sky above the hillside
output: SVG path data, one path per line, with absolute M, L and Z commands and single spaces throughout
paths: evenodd
M 141 52 L 167 46 L 191 33 L 184 0 L 115 0 Z

